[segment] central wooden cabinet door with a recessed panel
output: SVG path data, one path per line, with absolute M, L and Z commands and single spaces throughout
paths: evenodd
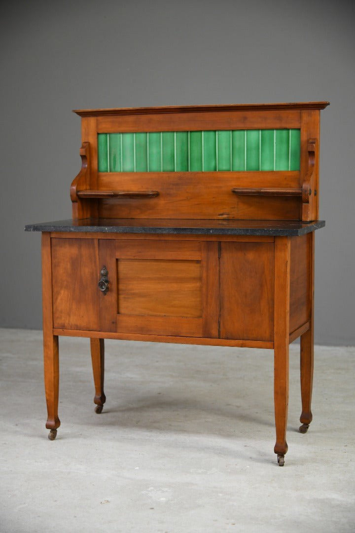
M 100 240 L 102 330 L 218 337 L 218 243 Z

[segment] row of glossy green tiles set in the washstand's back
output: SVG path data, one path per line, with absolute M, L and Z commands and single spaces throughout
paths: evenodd
M 99 133 L 99 172 L 298 171 L 300 130 Z

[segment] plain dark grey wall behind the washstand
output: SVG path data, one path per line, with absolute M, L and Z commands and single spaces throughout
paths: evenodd
M 0 326 L 40 328 L 40 236 L 71 216 L 76 108 L 330 100 L 321 114 L 316 342 L 355 344 L 354 3 L 128 0 L 2 7 Z

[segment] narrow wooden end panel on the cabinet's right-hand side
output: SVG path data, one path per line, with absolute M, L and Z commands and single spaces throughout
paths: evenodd
M 290 333 L 310 319 L 308 235 L 291 239 Z

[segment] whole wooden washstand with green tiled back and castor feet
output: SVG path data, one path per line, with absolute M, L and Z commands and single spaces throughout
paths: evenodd
M 301 338 L 300 431 L 312 420 L 319 115 L 328 102 L 75 111 L 72 219 L 42 231 L 49 439 L 58 336 L 89 337 L 96 413 L 104 338 L 274 349 L 278 464 L 288 346 Z

